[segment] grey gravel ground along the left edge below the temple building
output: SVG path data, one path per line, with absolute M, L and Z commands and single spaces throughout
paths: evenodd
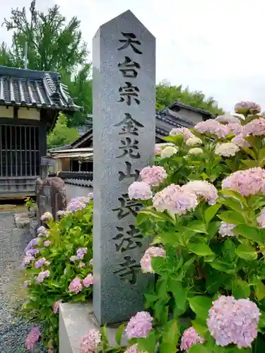
M 16 316 L 22 293 L 21 257 L 30 241 L 29 231 L 16 229 L 13 213 L 0 213 L 0 352 L 25 352 L 25 337 L 32 324 Z M 35 352 L 47 349 L 38 347 Z

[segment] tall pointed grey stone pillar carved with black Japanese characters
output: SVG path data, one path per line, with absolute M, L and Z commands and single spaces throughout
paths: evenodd
M 143 310 L 148 246 L 129 185 L 155 149 L 155 37 L 131 11 L 93 38 L 93 311 L 100 325 Z

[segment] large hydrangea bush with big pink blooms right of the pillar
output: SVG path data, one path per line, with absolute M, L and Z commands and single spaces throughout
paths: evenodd
M 82 352 L 240 353 L 265 347 L 265 119 L 259 104 L 173 128 L 153 167 L 129 186 L 136 223 L 153 234 L 143 273 L 146 311 L 124 329 L 128 347 Z M 173 145 L 172 145 L 173 144 Z M 95 335 L 95 333 L 94 333 Z M 88 343 L 88 337 L 84 340 Z M 95 342 L 95 340 L 94 340 Z M 89 347 L 89 345 L 87 345 Z M 94 346 L 93 346 L 94 347 Z

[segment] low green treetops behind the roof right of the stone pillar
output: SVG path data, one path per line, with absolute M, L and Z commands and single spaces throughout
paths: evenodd
M 182 85 L 170 86 L 160 83 L 156 86 L 156 104 L 157 110 L 163 109 L 172 104 L 175 100 L 191 105 L 194 108 L 208 110 L 212 114 L 222 114 L 223 109 L 218 108 L 217 102 L 213 97 L 206 98 L 201 91 L 191 92 L 189 87 L 182 89 Z

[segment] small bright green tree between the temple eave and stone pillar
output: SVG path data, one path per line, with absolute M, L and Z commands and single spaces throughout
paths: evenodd
M 78 136 L 79 134 L 76 129 L 67 126 L 66 116 L 64 114 L 59 114 L 57 124 L 54 126 L 53 131 L 47 136 L 48 148 L 68 145 L 76 140 Z

